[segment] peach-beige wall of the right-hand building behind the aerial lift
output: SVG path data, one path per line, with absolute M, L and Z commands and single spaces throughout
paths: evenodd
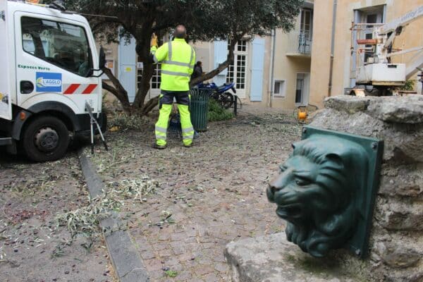
M 386 22 L 403 16 L 417 6 L 423 5 L 423 0 L 338 0 L 336 10 L 335 48 L 333 52 L 332 87 L 329 88 L 330 42 L 333 1 L 316 0 L 314 3 L 314 41 L 312 53 L 312 82 L 310 103 L 322 104 L 324 97 L 340 95 L 344 88 L 350 86 L 351 67 L 351 23 L 354 20 L 354 10 L 369 6 L 386 5 Z M 317 15 L 326 15 L 318 17 Z M 394 48 L 409 49 L 423 45 L 423 18 L 415 20 L 402 35 L 396 38 Z M 393 57 L 396 63 L 410 63 L 415 52 Z

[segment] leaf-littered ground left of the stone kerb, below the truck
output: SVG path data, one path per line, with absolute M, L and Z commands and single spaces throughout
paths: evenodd
M 0 155 L 0 281 L 114 281 L 101 238 L 89 246 L 56 225 L 88 204 L 75 152 L 44 164 Z

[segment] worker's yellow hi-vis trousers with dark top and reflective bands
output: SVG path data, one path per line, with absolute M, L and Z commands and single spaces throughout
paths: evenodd
M 176 98 L 178 111 L 180 115 L 180 124 L 182 125 L 183 144 L 189 146 L 194 138 L 194 128 L 190 116 L 190 95 L 187 91 L 164 91 L 161 90 L 159 99 L 159 120 L 156 123 L 155 134 L 156 143 L 159 146 L 165 146 L 166 134 L 169 123 L 169 116 L 172 112 L 173 97 Z

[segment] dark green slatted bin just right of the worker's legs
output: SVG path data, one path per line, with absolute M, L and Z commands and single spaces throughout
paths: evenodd
M 191 123 L 196 131 L 207 131 L 209 121 L 209 97 L 211 90 L 193 88 L 191 91 Z

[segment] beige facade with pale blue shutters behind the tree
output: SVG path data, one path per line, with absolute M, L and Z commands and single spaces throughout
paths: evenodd
M 286 34 L 272 30 L 266 37 L 245 38 L 237 42 L 234 61 L 210 82 L 222 85 L 235 82 L 237 95 L 244 103 L 293 109 L 309 99 L 310 66 L 313 37 L 313 1 L 305 1 L 295 28 Z M 163 38 L 161 43 L 168 38 Z M 212 71 L 226 60 L 227 41 L 196 42 L 197 61 L 203 71 Z M 135 41 L 104 46 L 106 61 L 125 90 L 130 101 L 135 99 L 137 83 L 142 77 L 142 63 L 137 61 Z M 151 81 L 147 98 L 159 94 L 160 65 Z

